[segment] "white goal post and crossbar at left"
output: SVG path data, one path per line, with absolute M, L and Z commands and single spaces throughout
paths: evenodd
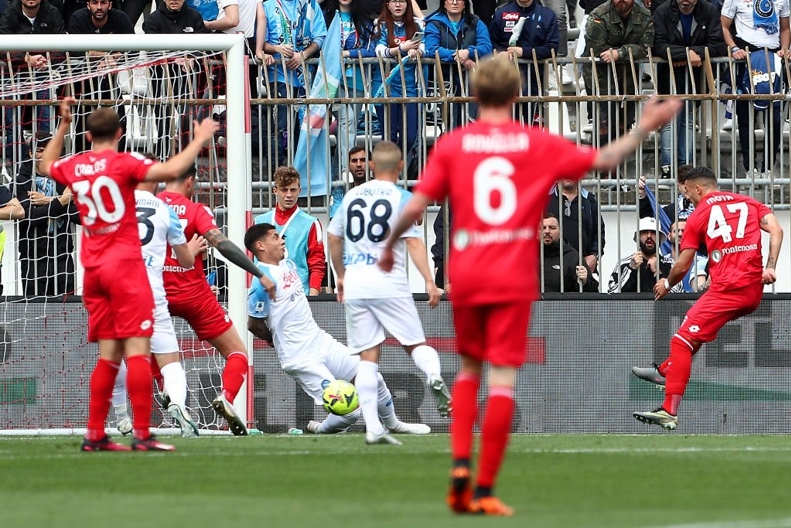
M 15 52 L 52 52 L 75 53 L 85 61 L 87 51 L 114 52 L 220 52 L 225 57 L 226 72 L 226 145 L 227 152 L 227 202 L 226 218 L 227 236 L 235 244 L 243 246 L 244 234 L 252 206 L 251 189 L 251 151 L 250 151 L 250 94 L 248 90 L 248 56 L 245 53 L 245 40 L 242 35 L 210 34 L 210 35 L 0 35 L 0 54 L 6 60 L 8 53 Z M 68 59 L 67 61 L 68 62 Z M 8 63 L 6 63 L 7 65 Z M 0 110 L 4 110 L 9 94 L 33 92 L 40 86 L 36 84 L 34 70 L 30 70 L 29 77 L 34 79 L 30 88 L 24 86 L 10 86 L 7 78 L 0 86 Z M 42 75 L 46 75 L 44 72 Z M 97 77 L 95 72 L 86 74 L 86 78 Z M 78 75 L 71 77 L 68 82 L 80 81 Z M 66 82 L 64 82 L 66 83 Z M 13 84 L 13 83 L 11 83 Z M 26 92 L 27 90 L 27 92 Z M 55 112 L 53 105 L 53 112 Z M 55 119 L 55 125 L 57 118 Z M 69 138 L 67 138 L 68 140 Z M 1 182 L 6 183 L 6 182 Z M 6 224 L 8 226 L 9 224 Z M 10 251 L 10 248 L 9 248 Z M 4 273 L 8 273 L 6 270 Z M 228 266 L 228 312 L 234 322 L 237 332 L 247 344 L 251 352 L 252 339 L 247 331 L 247 273 L 233 265 Z M 8 293 L 8 292 L 6 292 Z M 78 292 L 79 293 L 79 292 Z M 251 355 L 252 360 L 252 355 Z M 2 367 L 2 362 L 0 362 Z M 252 361 L 251 361 L 252 369 Z M 248 376 L 248 379 L 250 377 Z M 249 381 L 252 381 L 249 379 Z M 247 384 L 246 384 L 247 385 Z M 240 416 L 247 417 L 248 423 L 253 419 L 251 409 L 248 408 L 250 391 L 243 386 L 235 407 Z M 251 401 L 251 400 L 250 400 Z M 84 402 L 87 410 L 87 401 Z M 112 411 L 111 411 L 112 416 Z M 82 426 L 83 424 L 80 424 Z M 0 429 L 4 427 L 0 424 Z

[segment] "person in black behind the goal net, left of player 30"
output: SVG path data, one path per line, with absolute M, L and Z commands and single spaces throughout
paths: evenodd
M 79 223 L 71 189 L 39 173 L 39 163 L 50 136 L 33 137 L 30 159 L 14 181 L 25 216 L 19 221 L 19 260 L 25 297 L 58 296 L 74 292 L 74 225 Z

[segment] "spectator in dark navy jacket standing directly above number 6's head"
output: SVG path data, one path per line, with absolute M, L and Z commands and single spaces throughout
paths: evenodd
M 555 12 L 537 0 L 514 0 L 494 12 L 489 34 L 494 49 L 522 59 L 522 95 L 540 95 L 533 54 L 536 60 L 543 60 L 550 58 L 553 50 L 558 52 L 560 31 Z M 522 119 L 537 123 L 539 113 L 531 108 L 533 103 L 521 106 Z

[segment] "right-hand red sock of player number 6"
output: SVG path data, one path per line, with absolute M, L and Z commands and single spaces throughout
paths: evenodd
M 454 412 L 456 410 L 454 409 Z M 481 454 L 478 465 L 479 488 L 492 488 L 505 456 L 514 416 L 512 387 L 491 387 L 486 416 L 481 428 Z

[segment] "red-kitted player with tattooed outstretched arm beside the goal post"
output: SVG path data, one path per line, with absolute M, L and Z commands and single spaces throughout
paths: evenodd
M 274 292 L 274 283 L 253 264 L 242 249 L 220 231 L 214 223 L 211 210 L 192 201 L 194 189 L 195 167 L 190 167 L 178 179 L 169 182 L 158 196 L 181 219 L 186 236 L 192 237 L 197 233 L 204 237 L 229 262 L 258 277 L 271 295 Z M 170 314 L 187 321 L 199 339 L 211 343 L 226 359 L 222 371 L 222 392 L 212 401 L 212 407 L 226 419 L 233 434 L 246 435 L 247 426 L 234 410 L 233 401 L 247 376 L 247 349 L 231 318 L 217 302 L 217 296 L 206 282 L 203 260 L 196 259 L 195 265 L 186 269 L 168 251 L 163 275 Z

